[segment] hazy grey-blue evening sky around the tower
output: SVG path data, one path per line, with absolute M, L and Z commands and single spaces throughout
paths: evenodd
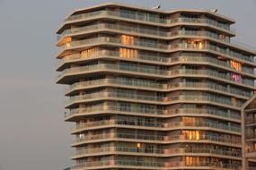
M 64 89 L 55 84 L 56 30 L 72 10 L 104 0 L 0 0 L 0 170 L 70 165 Z M 238 41 L 256 47 L 256 0 L 119 0 L 163 9 L 215 9 L 234 18 Z

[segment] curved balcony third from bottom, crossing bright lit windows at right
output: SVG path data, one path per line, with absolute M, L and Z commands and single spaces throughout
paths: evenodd
M 190 137 L 186 135 L 172 135 L 172 136 L 160 136 L 160 135 L 146 135 L 146 134 L 135 134 L 135 133 L 125 133 L 125 132 L 109 132 L 101 134 L 87 134 L 83 137 L 77 137 L 73 146 L 83 145 L 89 142 L 97 142 L 102 140 L 128 140 L 128 141 L 141 141 L 141 142 L 157 142 L 157 143 L 179 143 L 179 142 L 207 142 L 207 143 L 217 143 L 227 146 L 241 147 L 241 140 L 224 138 L 221 136 L 212 135 L 199 135 L 197 137 Z

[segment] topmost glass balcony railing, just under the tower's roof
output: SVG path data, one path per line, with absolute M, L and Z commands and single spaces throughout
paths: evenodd
M 137 20 L 137 21 L 150 21 L 155 23 L 162 23 L 162 24 L 173 24 L 177 22 L 190 22 L 190 23 L 203 23 L 203 24 L 209 24 L 212 26 L 215 26 L 219 29 L 228 30 L 234 32 L 234 30 L 230 29 L 230 26 L 228 24 L 223 24 L 218 21 L 209 20 L 209 19 L 200 19 L 200 18 L 175 18 L 175 19 L 162 19 L 158 17 L 150 17 L 145 15 L 140 15 L 137 13 L 122 13 L 122 12 L 114 12 L 114 11 L 97 11 L 93 13 L 82 13 L 82 14 L 76 14 L 69 16 L 65 21 L 75 21 L 75 20 L 83 20 L 83 19 L 90 19 L 93 17 L 101 17 L 101 16 L 114 16 L 114 17 L 120 17 L 120 18 L 126 18 L 131 20 Z

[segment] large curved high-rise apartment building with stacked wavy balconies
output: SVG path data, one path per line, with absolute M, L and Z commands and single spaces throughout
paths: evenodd
M 75 10 L 57 30 L 73 170 L 241 169 L 255 52 L 234 20 L 126 4 Z

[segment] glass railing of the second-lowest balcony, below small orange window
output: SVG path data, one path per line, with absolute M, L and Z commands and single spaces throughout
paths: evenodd
M 76 157 L 93 154 L 93 153 L 102 153 L 102 152 L 132 152 L 138 154 L 149 154 L 149 155 L 172 155 L 172 154 L 214 154 L 214 155 L 223 155 L 230 157 L 241 157 L 241 151 L 235 150 L 224 150 L 224 149 L 209 149 L 209 148 L 181 148 L 181 149 L 145 149 L 145 148 L 133 148 L 133 147 L 101 147 L 101 148 L 84 148 L 76 150 Z

